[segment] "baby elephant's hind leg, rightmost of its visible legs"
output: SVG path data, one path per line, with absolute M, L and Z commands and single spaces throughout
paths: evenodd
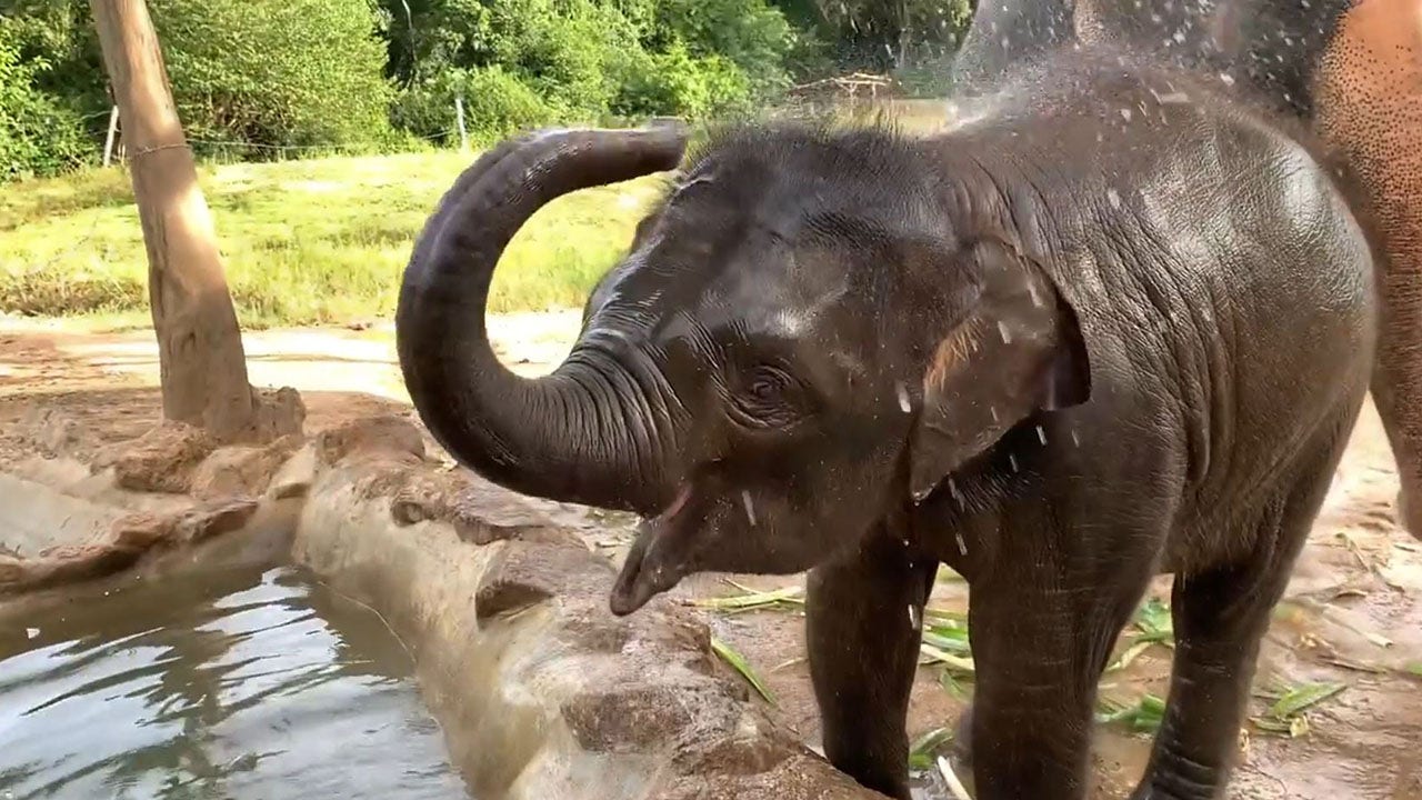
M 1249 559 L 1176 577 L 1170 695 L 1145 777 L 1132 800 L 1220 796 L 1239 747 L 1270 612 L 1284 594 L 1345 446 L 1347 436 L 1328 443 L 1291 494 L 1266 511 L 1257 549 Z

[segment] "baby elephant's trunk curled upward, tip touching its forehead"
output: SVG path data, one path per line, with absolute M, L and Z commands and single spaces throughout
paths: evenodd
M 543 131 L 505 142 L 465 169 L 425 223 L 405 268 L 395 343 L 424 424 L 461 464 L 523 494 L 644 511 L 660 487 L 640 480 L 650 443 L 617 399 L 630 376 L 582 342 L 552 374 L 499 362 L 485 326 L 505 246 L 555 198 L 671 169 L 680 128 Z

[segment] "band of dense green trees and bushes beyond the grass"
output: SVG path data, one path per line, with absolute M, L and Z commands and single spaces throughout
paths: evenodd
M 205 155 L 448 144 L 549 122 L 705 117 L 852 70 L 936 70 L 970 0 L 148 0 Z M 88 0 L 0 0 L 0 175 L 97 158 Z

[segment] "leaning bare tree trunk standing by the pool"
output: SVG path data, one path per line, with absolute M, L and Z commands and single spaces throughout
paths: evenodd
M 90 0 L 148 249 L 148 299 L 158 335 L 164 417 L 223 441 L 255 423 L 237 316 L 216 232 L 168 87 L 144 0 Z

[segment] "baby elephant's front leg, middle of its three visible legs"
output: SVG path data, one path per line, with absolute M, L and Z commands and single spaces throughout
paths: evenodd
M 1158 537 L 1113 538 L 1132 540 Z M 1058 571 L 1051 557 L 1017 555 L 974 584 L 968 601 L 977 799 L 1081 800 L 1096 682 L 1145 594 L 1150 559 L 1121 555 L 1109 569 Z

